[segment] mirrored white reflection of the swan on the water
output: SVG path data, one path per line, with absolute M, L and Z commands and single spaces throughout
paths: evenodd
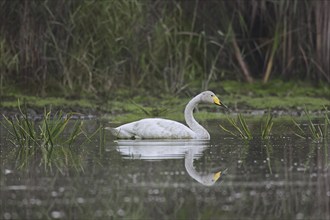
M 209 147 L 207 140 L 116 140 L 117 150 L 126 159 L 165 160 L 184 158 L 188 174 L 205 186 L 212 186 L 224 171 L 219 169 L 200 174 L 194 168 L 194 159 L 203 155 Z

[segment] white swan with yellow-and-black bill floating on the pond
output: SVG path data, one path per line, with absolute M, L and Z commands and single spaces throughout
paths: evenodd
M 147 118 L 117 128 L 107 127 L 106 129 L 117 138 L 124 139 L 210 139 L 210 134 L 193 116 L 193 110 L 199 103 L 212 103 L 226 107 L 213 92 L 205 91 L 190 100 L 185 108 L 184 117 L 189 127 L 168 119 Z

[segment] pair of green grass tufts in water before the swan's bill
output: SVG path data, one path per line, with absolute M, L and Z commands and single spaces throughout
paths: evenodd
M 238 114 L 236 120 L 227 116 L 227 121 L 233 127 L 233 131 L 225 128 L 222 125 L 219 125 L 222 130 L 227 132 L 228 134 L 239 137 L 241 139 L 252 140 L 253 135 L 251 129 L 248 127 L 246 123 L 246 119 L 242 114 Z M 273 116 L 269 113 L 264 122 L 261 123 L 261 139 L 268 139 L 273 128 Z

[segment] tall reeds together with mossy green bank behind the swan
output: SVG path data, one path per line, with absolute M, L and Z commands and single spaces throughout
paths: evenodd
M 329 9 L 312 0 L 0 1 L 0 111 L 15 113 L 20 99 L 32 116 L 53 108 L 180 120 L 193 95 L 212 90 L 236 113 L 318 114 L 330 105 Z

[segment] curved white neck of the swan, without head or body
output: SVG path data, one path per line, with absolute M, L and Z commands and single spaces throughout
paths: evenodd
M 187 125 L 193 130 L 197 138 L 201 139 L 210 139 L 210 134 L 207 132 L 203 126 L 201 126 L 194 118 L 193 111 L 194 108 L 200 103 L 200 97 L 196 96 L 187 104 L 184 110 L 184 118 L 186 120 Z

